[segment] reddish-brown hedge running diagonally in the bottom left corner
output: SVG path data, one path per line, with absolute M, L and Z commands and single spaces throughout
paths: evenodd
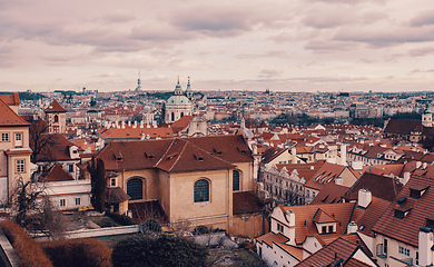
M 21 267 L 53 266 L 41 247 L 19 225 L 8 219 L 0 221 L 0 229 L 3 230 L 14 248 Z

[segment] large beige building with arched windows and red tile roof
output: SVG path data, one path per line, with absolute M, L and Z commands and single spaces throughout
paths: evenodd
M 264 206 L 251 197 L 254 158 L 241 136 L 112 141 L 98 158 L 111 174 L 108 185 L 122 188 L 130 207 L 157 200 L 167 222 L 264 233 Z

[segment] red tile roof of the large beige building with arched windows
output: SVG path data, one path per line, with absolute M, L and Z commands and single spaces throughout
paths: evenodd
M 108 170 L 159 168 L 165 171 L 231 169 L 251 162 L 241 136 L 111 141 L 99 154 Z

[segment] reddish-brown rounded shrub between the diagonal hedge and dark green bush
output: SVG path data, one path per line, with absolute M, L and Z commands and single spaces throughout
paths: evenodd
M 92 238 L 47 241 L 41 244 L 56 267 L 110 267 L 111 251 Z

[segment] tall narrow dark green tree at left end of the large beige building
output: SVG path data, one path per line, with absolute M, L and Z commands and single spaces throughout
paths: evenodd
M 107 180 L 103 161 L 92 157 L 90 164 L 88 165 L 88 171 L 90 174 L 91 186 L 90 202 L 96 210 L 102 211 L 107 200 Z

